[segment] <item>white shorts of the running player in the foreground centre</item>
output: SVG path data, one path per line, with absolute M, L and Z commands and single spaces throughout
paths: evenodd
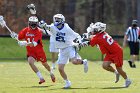
M 57 63 L 67 64 L 69 62 L 69 59 L 72 59 L 72 58 L 81 59 L 80 55 L 75 51 L 75 48 L 73 46 L 60 49 Z

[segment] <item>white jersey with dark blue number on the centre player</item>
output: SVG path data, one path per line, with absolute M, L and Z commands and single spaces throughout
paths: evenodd
M 55 47 L 58 49 L 73 46 L 73 40 L 80 36 L 74 32 L 67 23 L 64 23 L 64 27 L 59 30 L 54 24 L 48 25 L 49 30 L 52 33 L 52 40 L 55 41 Z

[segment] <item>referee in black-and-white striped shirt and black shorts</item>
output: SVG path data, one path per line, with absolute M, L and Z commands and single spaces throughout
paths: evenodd
M 139 27 L 137 26 L 138 21 L 133 20 L 132 26 L 128 27 L 125 35 L 124 35 L 124 42 L 123 47 L 126 47 L 126 42 L 128 41 L 128 45 L 130 48 L 130 60 L 128 61 L 131 68 L 136 68 L 135 60 L 138 59 L 139 55 Z

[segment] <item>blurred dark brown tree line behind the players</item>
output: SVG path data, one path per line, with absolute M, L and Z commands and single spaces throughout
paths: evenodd
M 86 32 L 91 22 L 101 21 L 107 24 L 107 32 L 123 35 L 133 19 L 138 18 L 140 0 L 0 0 L 0 15 L 5 17 L 7 25 L 15 32 L 28 26 L 26 6 L 36 5 L 38 15 L 48 24 L 53 15 L 62 13 L 66 22 L 78 33 Z M 0 34 L 9 34 L 0 27 Z

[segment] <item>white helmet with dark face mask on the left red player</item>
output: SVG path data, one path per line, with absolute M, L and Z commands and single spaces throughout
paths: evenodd
M 29 17 L 28 24 L 31 29 L 35 29 L 38 26 L 38 18 L 36 16 Z

